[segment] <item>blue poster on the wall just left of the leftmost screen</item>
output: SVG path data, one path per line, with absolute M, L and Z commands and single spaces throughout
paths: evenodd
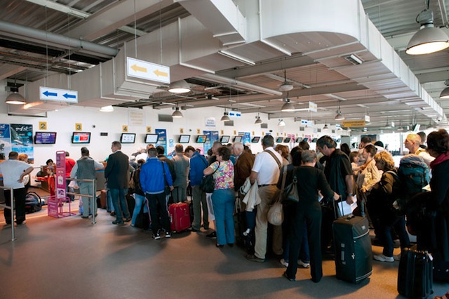
M 34 163 L 33 125 L 11 124 L 11 151 L 27 154 L 28 161 Z

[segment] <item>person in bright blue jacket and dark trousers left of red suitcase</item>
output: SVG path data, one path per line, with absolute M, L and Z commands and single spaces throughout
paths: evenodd
M 164 177 L 165 173 L 165 177 Z M 165 230 L 166 238 L 170 238 L 170 218 L 168 217 L 165 186 L 173 190 L 173 180 L 166 163 L 157 158 L 157 150 L 148 150 L 147 163 L 140 168 L 140 187 L 145 192 L 149 203 L 149 214 L 152 218 L 153 239 L 161 239 L 161 229 Z M 159 218 L 161 220 L 159 221 Z

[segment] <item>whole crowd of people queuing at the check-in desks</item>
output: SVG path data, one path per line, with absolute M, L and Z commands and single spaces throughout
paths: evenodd
M 431 169 L 431 192 L 419 190 L 418 194 L 404 190 L 406 178 L 401 177 L 401 169 L 395 166 L 391 153 L 382 142 L 373 142 L 367 136 L 361 138 L 358 149 L 351 149 L 347 144 L 337 148 L 335 140 L 328 135 L 316 141 L 316 152 L 309 150 L 307 142 L 300 142 L 291 150 L 286 145 L 275 147 L 272 135 L 265 135 L 261 144 L 263 151 L 253 155 L 241 142 L 222 145 L 216 141 L 207 159 L 192 146 L 175 145 L 175 154 L 169 159 L 163 147 L 149 145 L 146 150 L 133 154 L 130 160 L 121 152 L 121 143 L 112 142 L 112 154 L 105 167 L 111 198 L 109 208 L 115 216 L 112 224 L 124 225 L 130 221 L 134 226 L 143 206 L 143 211 L 149 211 L 153 238 L 170 238 L 168 201 L 186 201 L 187 190 L 191 188 L 192 232 L 205 230 L 206 237 L 216 239 L 218 248 L 234 246 L 243 239 L 248 250 L 247 260 L 263 263 L 267 251 L 271 251 L 287 267 L 283 276 L 290 281 L 295 280 L 299 265 L 310 267 L 311 280 L 319 282 L 323 276 L 323 255 L 333 252 L 332 223 L 342 215 L 337 207 L 343 201 L 349 205 L 356 202 L 354 215 L 368 218 L 383 246 L 382 254 L 373 256 L 375 260 L 391 263 L 400 258 L 393 254 L 394 239 L 398 237 L 402 249 L 410 246 L 406 217 L 411 218 L 415 213 L 418 247 L 434 255 L 437 263 L 449 263 L 447 131 L 429 133 L 427 140 L 412 133 L 404 142 L 413 159 Z M 89 157 L 86 147 L 81 149 L 80 159 L 74 161 L 67 155 L 66 163 L 70 166 L 67 177 L 79 179 L 95 179 L 95 169 L 103 167 Z M 17 198 L 25 196 L 23 178 L 31 169 L 18 161 L 15 152 L 0 164 L 5 186 L 13 187 Z M 205 175 L 213 176 L 213 192 L 206 193 L 201 188 Z M 280 190 L 291 182 L 296 184 L 300 201 L 283 202 L 282 225 L 270 227 L 269 209 L 280 198 Z M 95 194 L 91 186 L 79 182 L 82 194 Z M 130 187 L 135 200 L 132 218 L 126 200 Z M 406 204 L 398 206 L 405 195 Z M 91 200 L 83 197 L 83 206 L 91 207 Z M 421 207 L 422 215 L 416 215 L 416 206 Z M 424 213 L 422 206 L 425 206 Z M 93 211 L 86 208 L 81 217 L 96 215 L 96 202 L 93 207 Z M 243 230 L 234 226 L 236 213 L 243 220 Z M 20 204 L 16 217 L 18 223 L 25 222 Z M 5 218 L 11 224 L 8 210 Z M 211 230 L 212 225 L 215 230 Z

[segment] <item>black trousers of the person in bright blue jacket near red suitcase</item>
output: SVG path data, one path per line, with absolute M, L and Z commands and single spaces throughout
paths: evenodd
M 170 218 L 168 217 L 166 194 L 164 192 L 158 194 L 147 193 L 145 197 L 148 199 L 153 234 L 156 234 L 161 228 L 166 232 L 170 232 Z

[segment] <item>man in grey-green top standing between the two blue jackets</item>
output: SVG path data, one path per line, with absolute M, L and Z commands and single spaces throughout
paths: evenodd
M 180 144 L 175 145 L 176 156 L 171 161 L 175 164 L 175 180 L 172 192 L 173 202 L 178 203 L 187 199 L 187 178 L 189 177 L 189 158 L 184 155 L 184 147 Z

